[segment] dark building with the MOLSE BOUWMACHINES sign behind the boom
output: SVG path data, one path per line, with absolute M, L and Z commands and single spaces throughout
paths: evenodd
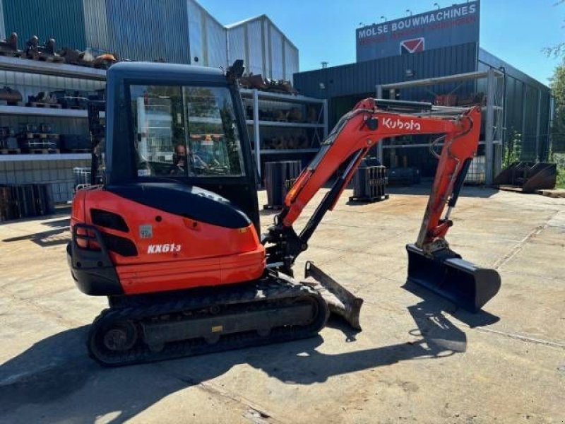
M 492 133 L 487 136 L 483 128 L 479 155 L 490 156 L 487 169 L 492 170 L 481 182 L 492 182 L 493 174 L 501 167 L 503 146 L 511 138 L 521 138 L 522 160 L 547 160 L 551 92 L 544 84 L 480 47 L 479 12 L 480 2 L 471 1 L 359 28 L 357 62 L 296 73 L 295 87 L 304 95 L 328 101 L 330 126 L 359 100 L 375 95 L 453 106 L 471 104 L 474 98 L 485 108 L 490 95 Z M 430 23 L 430 17 L 441 18 L 441 27 Z M 418 28 L 413 26 L 415 22 L 420 22 Z M 408 24 L 412 28 L 405 30 Z M 490 93 L 489 69 L 496 74 Z M 457 75 L 461 78 L 453 77 Z M 444 83 L 434 83 L 430 78 Z M 488 140 L 491 146 L 487 146 Z M 383 164 L 415 167 L 424 177 L 430 177 L 436 166 L 428 153 L 431 141 L 430 137 L 384 141 Z

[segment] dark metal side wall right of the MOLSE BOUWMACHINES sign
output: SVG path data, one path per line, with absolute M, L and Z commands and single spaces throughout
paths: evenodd
M 505 124 L 504 142 L 514 131 L 522 135 L 522 160 L 547 160 L 549 154 L 549 104 L 551 91 L 549 88 L 522 71 L 514 68 L 498 57 L 479 50 L 479 71 L 486 71 L 492 66 L 504 68 L 506 73 Z M 479 89 L 484 90 L 484 81 Z M 523 110 L 525 102 L 525 110 Z M 539 110 L 538 110 L 539 104 Z M 539 116 L 539 139 L 537 136 Z M 536 150 L 537 149 L 537 150 Z

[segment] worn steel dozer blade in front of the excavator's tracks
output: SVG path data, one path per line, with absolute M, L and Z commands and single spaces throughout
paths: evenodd
M 362 298 L 357 298 L 310 261 L 307 261 L 304 267 L 304 278 L 311 278 L 311 281 L 304 283 L 310 285 L 322 295 L 331 313 L 343 317 L 347 324 L 350 324 L 354 329 L 361 329 L 359 314 L 363 305 Z

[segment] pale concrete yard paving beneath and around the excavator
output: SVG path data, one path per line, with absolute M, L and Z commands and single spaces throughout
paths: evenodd
M 391 192 L 345 192 L 298 264 L 364 298 L 362 332 L 118 369 L 85 352 L 105 300 L 73 284 L 68 217 L 0 225 L 0 422 L 565 423 L 565 199 L 464 189 L 448 240 L 502 277 L 471 315 L 403 288 L 426 190 Z

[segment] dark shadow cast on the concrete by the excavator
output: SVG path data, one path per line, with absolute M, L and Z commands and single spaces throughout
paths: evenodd
M 263 370 L 285 384 L 314 384 L 401 361 L 433 360 L 465 352 L 465 332 L 441 310 L 436 300 L 408 307 L 415 327 L 403 341 L 390 346 L 351 351 L 348 343 L 339 348 L 340 353 L 321 353 L 317 348 L 323 338 L 317 336 L 121 368 L 102 368 L 88 358 L 84 343 L 88 326 L 81 326 L 45 338 L 0 365 L 0 421 L 33 422 L 40 414 L 47 421 L 94 423 L 113 414 L 107 422 L 121 423 L 176 391 L 201 382 L 213 385 L 214 379 L 239 364 Z M 492 319 L 496 317 L 482 317 L 475 325 Z M 343 331 L 346 341 L 355 341 L 356 333 L 338 320 L 331 320 L 329 326 Z

